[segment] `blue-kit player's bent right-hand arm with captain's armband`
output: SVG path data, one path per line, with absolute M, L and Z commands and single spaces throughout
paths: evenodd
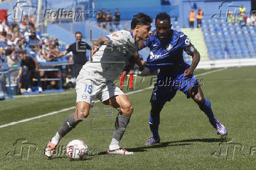
M 184 71 L 184 77 L 191 77 L 193 76 L 197 64 L 200 62 L 200 54 L 191 43 L 184 50 L 188 55 L 192 56 L 192 63 L 190 67 Z

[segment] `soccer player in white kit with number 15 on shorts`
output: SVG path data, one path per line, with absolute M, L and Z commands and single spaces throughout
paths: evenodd
M 66 118 L 58 132 L 46 145 L 46 157 L 51 158 L 60 139 L 89 115 L 90 107 L 93 106 L 96 98 L 99 98 L 104 104 L 120 108 L 107 154 L 133 154 L 133 152 L 119 147 L 119 142 L 133 113 L 133 106 L 123 91 L 113 84 L 113 80 L 118 78 L 126 63 L 132 60 L 133 53 L 138 50 L 139 40 L 149 38 L 152 33 L 151 22 L 152 19 L 148 15 L 138 13 L 134 15 L 130 31 L 119 30 L 98 39 L 96 43 L 94 42 L 92 57 L 83 66 L 76 79 L 75 113 Z M 139 59 L 136 59 L 136 63 L 139 66 L 144 65 L 143 61 L 139 61 Z

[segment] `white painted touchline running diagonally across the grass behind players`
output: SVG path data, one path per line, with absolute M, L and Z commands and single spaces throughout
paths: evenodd
M 224 69 L 226 69 L 226 68 L 224 68 Z M 206 75 L 206 74 L 210 74 L 210 73 L 214 73 L 214 72 L 219 72 L 219 71 L 224 70 L 224 69 L 213 70 L 213 71 L 210 71 L 210 72 L 197 74 L 197 75 L 195 75 L 195 76 L 203 76 L 203 75 Z M 147 87 L 147 88 L 145 88 L 145 89 L 130 91 L 130 92 L 126 93 L 126 95 L 134 94 L 134 93 L 137 93 L 137 92 L 140 92 L 140 91 L 144 91 L 144 90 L 148 90 L 148 89 L 153 89 L 153 86 Z M 98 103 L 98 102 L 99 102 L 99 100 L 95 101 L 95 103 Z M 36 116 L 36 117 L 25 118 L 25 119 L 20 120 L 20 121 L 15 121 L 15 122 L 12 122 L 12 123 L 0 125 L 0 128 L 4 128 L 4 127 L 8 127 L 8 126 L 10 126 L 10 125 L 15 125 L 15 124 L 23 123 L 23 122 L 26 122 L 26 121 L 31 121 L 31 120 L 38 119 L 38 118 L 42 118 L 42 117 L 46 117 L 46 116 L 48 116 L 48 115 L 58 114 L 58 113 L 60 113 L 60 112 L 68 111 L 68 110 L 75 109 L 75 108 L 76 108 L 76 107 L 73 106 L 73 107 L 69 107 L 69 108 L 64 108 L 64 109 L 62 109 L 62 110 L 58 110 L 58 111 L 53 111 L 53 112 L 50 112 L 50 113 L 46 113 L 46 114 L 43 114 L 43 115 L 38 115 L 38 116 Z

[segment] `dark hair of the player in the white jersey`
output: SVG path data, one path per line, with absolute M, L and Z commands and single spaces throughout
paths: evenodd
M 133 20 L 131 22 L 131 29 L 136 28 L 136 25 L 150 25 L 152 22 L 152 18 L 145 13 L 138 13 L 137 15 L 133 15 Z

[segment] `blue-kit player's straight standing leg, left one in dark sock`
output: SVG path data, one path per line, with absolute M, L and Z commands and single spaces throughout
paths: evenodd
M 163 109 L 164 104 L 151 103 L 151 111 L 149 115 L 149 127 L 152 132 L 152 136 L 145 145 L 153 145 L 160 142 L 159 136 L 159 124 L 160 124 L 160 112 Z

